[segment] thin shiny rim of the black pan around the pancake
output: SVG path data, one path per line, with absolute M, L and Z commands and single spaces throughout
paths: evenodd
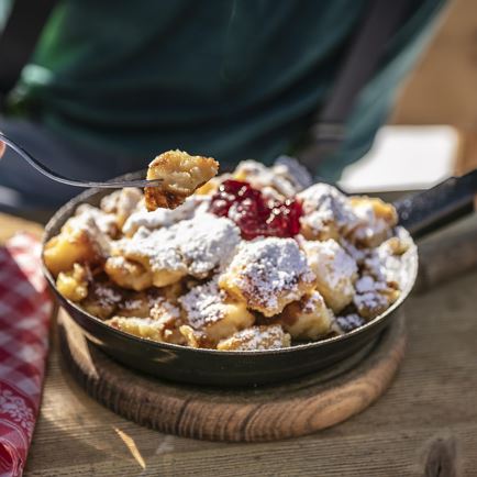
M 123 176 L 115 177 L 114 179 L 111 179 L 111 180 L 134 178 L 138 174 L 142 174 L 142 171 L 130 173 L 130 174 L 126 174 Z M 103 330 L 107 330 L 109 333 L 115 334 L 115 335 L 118 335 L 122 339 L 125 339 L 125 340 L 131 340 L 131 341 L 135 342 L 136 344 L 141 344 L 141 345 L 146 346 L 146 347 L 153 347 L 156 350 L 184 352 L 184 353 L 200 353 L 200 354 L 212 355 L 212 356 L 217 356 L 217 355 L 219 355 L 219 356 L 225 356 L 225 355 L 228 355 L 228 356 L 241 356 L 241 355 L 270 356 L 270 355 L 277 355 L 277 354 L 289 354 L 289 353 L 293 353 L 295 351 L 298 352 L 298 351 L 303 351 L 303 350 L 317 348 L 320 346 L 326 346 L 326 345 L 332 344 L 332 343 L 344 342 L 346 340 L 352 339 L 353 336 L 356 336 L 356 335 L 359 335 L 359 334 L 366 332 L 369 328 L 373 328 L 378 322 L 385 320 L 389 314 L 391 314 L 396 309 L 398 309 L 407 300 L 407 298 L 411 293 L 413 286 L 415 284 L 417 276 L 418 276 L 418 268 L 419 268 L 418 247 L 417 247 L 414 241 L 412 240 L 411 235 L 409 234 L 409 232 L 406 229 L 403 229 L 402 226 L 398 225 L 402 230 L 404 230 L 406 233 L 409 234 L 409 237 L 411 239 L 411 246 L 406 252 L 406 254 L 409 254 L 409 263 L 411 263 L 413 266 L 412 266 L 411 270 L 408 270 L 409 277 L 407 279 L 406 287 L 401 290 L 401 293 L 400 293 L 398 300 L 396 300 L 395 303 L 392 303 L 384 313 L 379 314 L 378 317 L 374 318 L 373 320 L 366 322 L 365 324 L 363 324 L 358 328 L 355 328 L 354 330 L 352 330 L 347 333 L 344 333 L 344 334 L 337 335 L 337 336 L 326 337 L 326 339 L 320 340 L 320 341 L 293 344 L 289 347 L 282 347 L 282 348 L 277 348 L 277 350 L 221 351 L 221 350 L 211 350 L 211 348 L 193 348 L 190 346 L 182 346 L 182 345 L 173 344 L 173 343 L 155 342 L 153 340 L 136 336 L 136 335 L 123 332 L 121 330 L 118 330 L 118 329 L 104 323 L 98 317 L 95 317 L 93 314 L 88 313 L 87 311 L 85 311 L 82 308 L 80 308 L 74 301 L 67 299 L 57 289 L 56 282 L 53 278 L 53 275 L 51 274 L 51 271 L 48 270 L 48 268 L 45 265 L 45 262 L 43 258 L 43 249 L 44 249 L 46 241 L 51 239 L 51 236 L 49 236 L 51 230 L 57 225 L 57 223 L 62 220 L 62 217 L 65 213 L 69 213 L 69 214 L 66 219 L 64 219 L 63 223 L 69 217 L 71 217 L 71 210 L 74 210 L 77 206 L 82 203 L 84 200 L 89 199 L 92 196 L 96 196 L 97 193 L 99 193 L 101 191 L 102 191 L 101 189 L 97 189 L 97 188 L 90 188 L 90 189 L 85 190 L 84 192 L 75 196 L 74 198 L 68 200 L 65 204 L 63 204 L 48 220 L 48 222 L 45 225 L 45 229 L 43 232 L 43 237 L 42 237 L 42 257 L 41 257 L 42 271 L 43 271 L 43 275 L 46 277 L 46 280 L 48 281 L 48 285 L 53 288 L 55 293 L 57 293 L 59 297 L 62 297 L 62 299 L 65 300 L 69 307 L 75 309 L 76 312 L 80 313 L 87 320 L 92 321 L 96 325 L 99 325 Z M 62 223 L 62 225 L 63 225 L 63 223 Z M 62 306 L 62 303 L 59 303 L 59 304 L 62 308 L 64 308 Z M 74 317 L 73 317 L 73 319 L 75 320 Z M 75 320 L 75 322 L 79 326 L 81 326 L 76 320 Z M 95 333 L 91 333 L 89 331 L 88 331 L 88 333 L 95 335 Z

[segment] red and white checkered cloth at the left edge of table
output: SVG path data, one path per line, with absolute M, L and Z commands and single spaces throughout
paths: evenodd
M 53 302 L 41 244 L 20 233 L 0 247 L 0 476 L 21 476 L 40 409 Z

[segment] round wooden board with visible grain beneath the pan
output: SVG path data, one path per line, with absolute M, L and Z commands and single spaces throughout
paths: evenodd
M 399 315 L 375 343 L 332 369 L 280 385 L 219 389 L 141 375 L 89 343 L 64 311 L 58 325 L 66 363 L 90 396 L 138 424 L 211 441 L 274 441 L 337 424 L 384 393 L 406 347 Z

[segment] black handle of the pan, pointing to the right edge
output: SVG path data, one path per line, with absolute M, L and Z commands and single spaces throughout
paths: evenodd
M 477 169 L 462 177 L 450 177 L 433 188 L 395 202 L 399 223 L 414 239 L 426 235 L 474 210 Z

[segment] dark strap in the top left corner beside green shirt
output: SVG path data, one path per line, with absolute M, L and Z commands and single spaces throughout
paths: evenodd
M 0 98 L 16 84 L 57 0 L 14 0 L 0 36 Z

